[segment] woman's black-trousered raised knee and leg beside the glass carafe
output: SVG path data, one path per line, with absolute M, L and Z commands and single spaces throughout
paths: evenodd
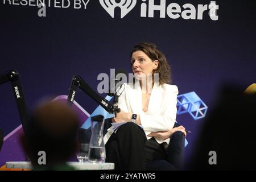
M 145 170 L 144 131 L 133 122 L 123 124 L 106 143 L 106 162 L 114 163 L 115 170 Z

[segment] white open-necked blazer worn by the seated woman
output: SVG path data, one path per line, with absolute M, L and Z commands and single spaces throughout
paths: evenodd
M 137 81 L 138 83 L 138 81 Z M 141 118 L 141 124 L 146 135 L 152 131 L 168 131 L 174 127 L 177 114 L 177 94 L 178 89 L 176 85 L 154 84 L 150 101 L 148 103 L 148 109 L 145 113 L 142 110 L 142 90 L 139 84 L 124 84 L 125 88 L 121 96 L 119 96 L 118 107 L 127 113 L 139 114 Z M 112 135 L 112 127 L 108 129 L 104 137 L 104 143 L 106 143 L 109 137 Z M 151 137 L 147 136 L 147 139 Z M 155 137 L 158 143 L 166 142 L 169 144 L 170 139 L 162 140 Z

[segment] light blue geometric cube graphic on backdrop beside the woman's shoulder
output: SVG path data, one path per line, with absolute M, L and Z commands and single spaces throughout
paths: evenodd
M 177 114 L 189 113 L 193 119 L 197 120 L 205 117 L 207 109 L 207 105 L 195 92 L 177 96 Z

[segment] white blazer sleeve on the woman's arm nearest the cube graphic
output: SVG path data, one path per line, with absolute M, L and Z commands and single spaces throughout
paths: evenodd
M 143 129 L 146 131 L 168 131 L 174 127 L 177 114 L 177 86 L 172 85 L 172 89 L 166 90 L 160 115 L 140 114 Z

